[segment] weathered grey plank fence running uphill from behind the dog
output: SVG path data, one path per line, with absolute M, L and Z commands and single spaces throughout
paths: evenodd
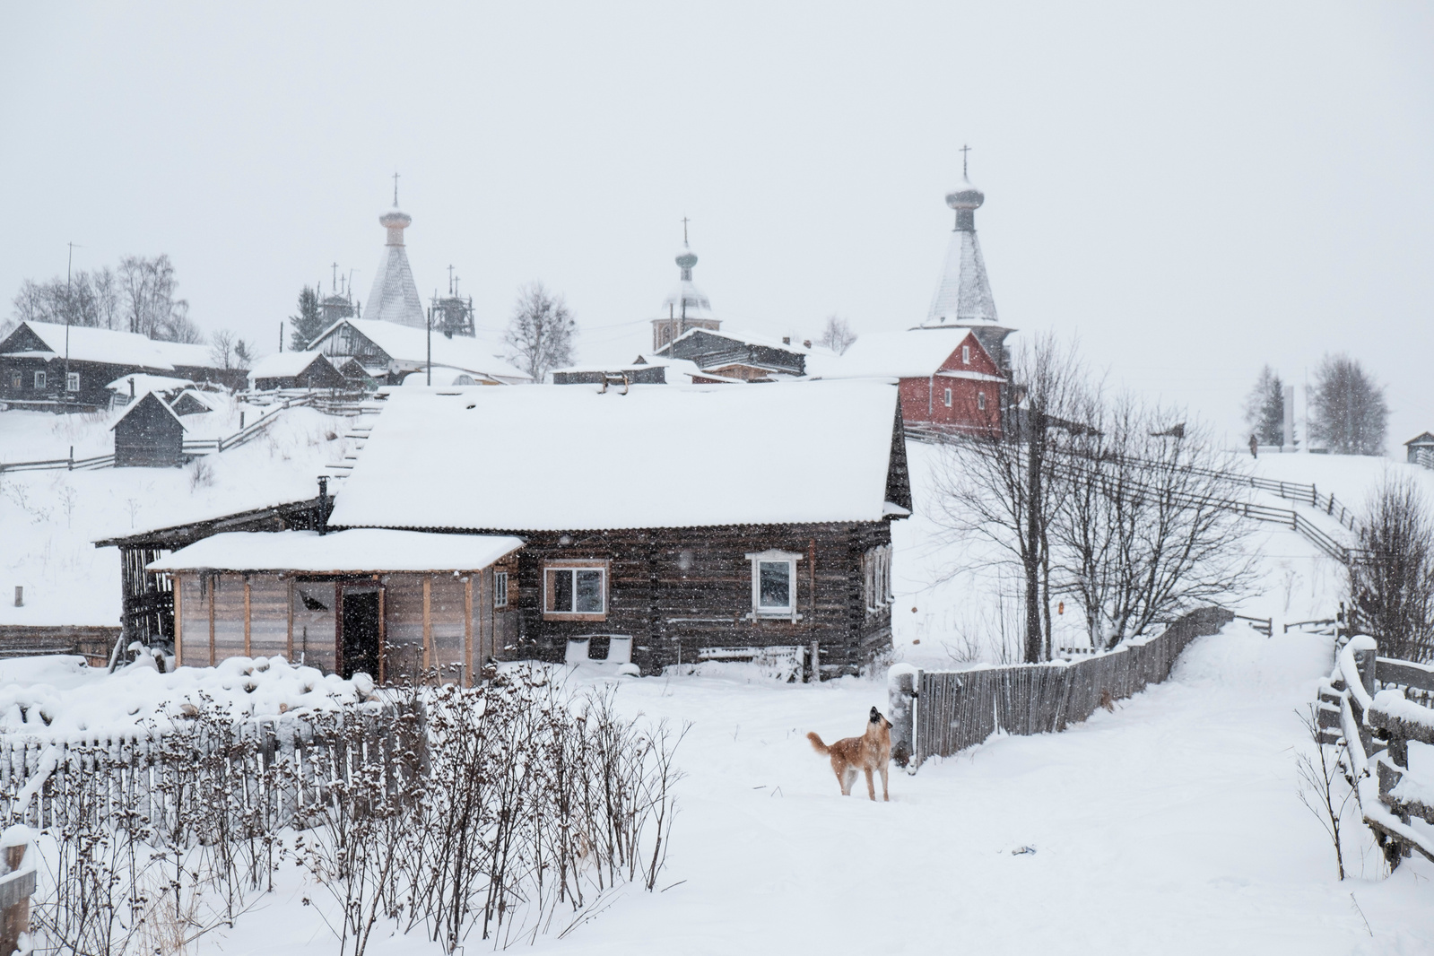
M 928 757 L 949 757 L 998 730 L 1021 735 L 1063 731 L 1097 707 L 1164 681 L 1190 641 L 1217 632 L 1233 618 L 1220 608 L 1202 608 L 1159 636 L 1070 664 L 974 671 L 898 665 L 889 677 L 892 755 L 915 771 Z

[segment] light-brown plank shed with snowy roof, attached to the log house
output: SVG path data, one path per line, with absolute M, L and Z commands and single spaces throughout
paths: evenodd
M 502 656 L 518 537 L 227 532 L 151 562 L 174 586 L 175 658 L 281 655 L 326 672 L 470 684 Z

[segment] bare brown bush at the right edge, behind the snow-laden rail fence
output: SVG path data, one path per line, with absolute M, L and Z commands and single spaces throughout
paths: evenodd
M 1367 559 L 1348 565 L 1359 626 L 1388 656 L 1434 661 L 1434 520 L 1414 479 L 1385 479 L 1364 527 Z

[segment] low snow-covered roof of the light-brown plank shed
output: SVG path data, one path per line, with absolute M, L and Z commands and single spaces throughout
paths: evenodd
M 181 548 L 149 570 L 480 570 L 523 546 L 508 535 L 433 535 L 356 527 L 343 532 L 224 532 Z

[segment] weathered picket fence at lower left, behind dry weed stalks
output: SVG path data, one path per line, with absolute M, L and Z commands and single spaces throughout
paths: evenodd
M 179 718 L 162 732 L 0 738 L 0 813 L 9 823 L 65 827 L 79 818 L 161 834 L 271 833 L 307 826 L 357 774 L 381 791 L 426 771 L 420 705 L 228 722 Z

